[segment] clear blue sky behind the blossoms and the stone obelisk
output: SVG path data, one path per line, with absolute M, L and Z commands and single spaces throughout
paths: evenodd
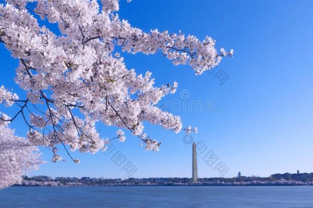
M 140 1 L 121 0 L 120 17 L 145 31 L 158 28 L 169 32 L 206 35 L 217 40 L 217 47 L 234 49 L 233 58 L 223 59 L 217 70 L 229 76 L 223 84 L 214 73 L 195 76 L 188 66 L 173 66 L 160 54 L 135 56 L 123 54 L 128 68 L 144 73 L 149 70 L 157 85 L 179 83 L 178 92 L 161 101 L 213 101 L 213 111 L 176 111 L 184 126 L 198 126 L 192 135 L 207 149 L 198 156 L 199 177 L 217 177 L 214 166 L 223 161 L 229 171 L 225 177 L 268 176 L 273 173 L 313 172 L 313 8 L 312 1 Z M 17 60 L 0 46 L 0 85 L 23 91 L 14 83 Z M 189 90 L 182 99 L 180 91 Z M 9 115 L 12 109 L 0 110 Z M 24 136 L 21 120 L 11 124 Z M 115 128 L 99 125 L 103 137 L 113 137 Z M 146 131 L 162 141 L 159 152 L 146 152 L 139 140 L 127 134 L 124 143 L 114 141 L 138 170 L 132 177 L 191 177 L 191 144 L 184 133 L 174 134 L 159 126 L 146 125 Z M 45 160 L 51 153 L 42 149 Z M 208 166 L 202 157 L 212 150 L 219 160 Z M 113 152 L 113 154 L 115 153 Z M 66 154 L 63 153 L 66 159 Z M 30 175 L 52 177 L 127 177 L 111 160 L 112 155 L 73 153 L 81 164 L 48 162 Z

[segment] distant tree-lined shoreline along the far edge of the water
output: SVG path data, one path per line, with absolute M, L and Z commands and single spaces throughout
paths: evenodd
M 107 179 L 90 177 L 23 177 L 14 186 L 270 186 L 313 185 L 313 173 L 273 174 L 269 177 L 239 176 L 233 178 L 127 178 Z

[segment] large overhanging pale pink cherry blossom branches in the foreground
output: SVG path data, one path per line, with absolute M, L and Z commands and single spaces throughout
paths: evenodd
M 118 10 L 118 0 L 6 0 L 6 5 L 0 5 L 0 42 L 19 60 L 15 82 L 27 92 L 19 99 L 0 88 L 0 103 L 20 107 L 11 118 L 0 120 L 9 123 L 22 117 L 29 128 L 27 142 L 49 148 L 53 162 L 62 160 L 57 145 L 70 157 L 69 150 L 96 153 L 113 139 L 125 141 L 124 130 L 131 131 L 147 150 L 158 150 L 161 143 L 147 136 L 144 121 L 175 133 L 197 131 L 183 128 L 179 116 L 157 107 L 164 96 L 177 90 L 178 83 L 155 86 L 151 72 L 136 74 L 128 69 L 117 50 L 159 52 L 174 65 L 188 64 L 197 75 L 233 54 L 224 48 L 218 52 L 209 36 L 201 41 L 181 32 L 144 32 L 120 20 Z M 40 25 L 39 18 L 57 24 L 58 31 Z M 97 122 L 121 129 L 114 138 L 101 138 Z M 11 137 L 15 145 L 13 141 L 21 140 L 8 127 L 2 129 L 9 134 L 0 141 L 9 142 Z

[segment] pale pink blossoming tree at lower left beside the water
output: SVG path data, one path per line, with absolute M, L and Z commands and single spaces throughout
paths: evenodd
M 22 175 L 42 164 L 37 147 L 0 124 L 0 189 L 22 182 Z

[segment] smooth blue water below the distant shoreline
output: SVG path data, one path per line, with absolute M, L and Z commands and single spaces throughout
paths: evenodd
M 313 207 L 313 186 L 10 187 L 0 207 Z

